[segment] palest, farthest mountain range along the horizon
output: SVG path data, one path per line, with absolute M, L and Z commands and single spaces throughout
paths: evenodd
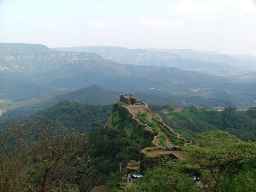
M 231 56 L 213 51 L 128 49 L 115 46 L 80 46 L 54 49 L 96 53 L 123 64 L 177 67 L 182 70 L 194 70 L 218 76 L 238 77 L 252 70 L 256 71 L 256 58 L 253 56 Z

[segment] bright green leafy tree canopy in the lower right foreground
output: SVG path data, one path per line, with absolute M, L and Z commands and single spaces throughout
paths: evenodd
M 256 190 L 256 142 L 244 142 L 228 132 L 212 130 L 199 134 L 194 144 L 183 147 L 182 152 L 185 160 L 166 158 L 162 166 L 148 170 L 134 185 L 112 187 L 113 191 Z

